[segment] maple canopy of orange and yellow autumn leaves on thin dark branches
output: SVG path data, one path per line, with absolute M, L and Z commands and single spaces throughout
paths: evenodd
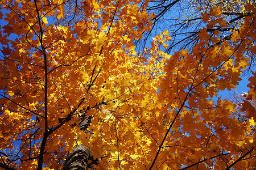
M 136 50 L 159 15 L 148 12 L 150 1 L 0 2 L 0 167 L 61 169 L 81 145 L 96 169 L 255 166 L 254 107 L 243 101 L 239 121 L 231 101 L 212 100 L 250 66 L 254 3 L 241 1 L 238 14 L 200 1 L 195 43 L 170 54 L 167 30 Z

